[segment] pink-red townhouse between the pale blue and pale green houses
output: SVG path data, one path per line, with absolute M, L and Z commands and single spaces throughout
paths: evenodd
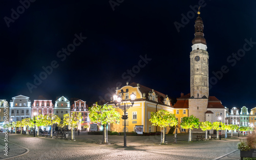
M 52 100 L 47 100 L 42 96 L 39 96 L 38 100 L 34 100 L 31 108 L 31 118 L 33 118 L 34 113 L 35 115 L 48 115 L 54 113 L 54 105 L 52 104 Z

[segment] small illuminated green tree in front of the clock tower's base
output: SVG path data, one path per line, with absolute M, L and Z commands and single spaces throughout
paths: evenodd
M 185 129 L 189 129 L 188 142 L 192 141 L 191 129 L 199 127 L 199 119 L 193 115 L 189 117 L 183 117 L 180 126 Z

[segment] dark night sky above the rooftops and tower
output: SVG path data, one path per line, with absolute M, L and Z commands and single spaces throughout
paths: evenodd
M 201 3 L 209 79 L 215 84 L 210 96 L 229 108 L 256 106 L 255 1 L 113 0 L 114 10 L 100 0 L 25 2 L 24 9 L 19 1 L 1 1 L 0 99 L 21 94 L 32 101 L 42 95 L 96 102 L 127 80 L 174 98 L 188 94 L 197 17 L 191 7 Z M 179 32 L 175 23 L 182 24 Z M 77 36 L 82 42 L 74 41 Z M 151 60 L 144 65 L 145 56 Z M 55 68 L 44 75 L 42 67 L 51 63 Z M 212 72 L 220 76 L 223 66 L 228 72 L 214 81 Z M 136 72 L 131 79 L 127 70 Z M 44 80 L 34 83 L 34 75 Z

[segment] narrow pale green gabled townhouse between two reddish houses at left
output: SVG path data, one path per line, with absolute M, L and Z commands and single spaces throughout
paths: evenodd
M 70 113 L 70 102 L 64 96 L 58 98 L 55 101 L 54 113 L 57 115 L 61 121 L 63 121 L 63 115 Z

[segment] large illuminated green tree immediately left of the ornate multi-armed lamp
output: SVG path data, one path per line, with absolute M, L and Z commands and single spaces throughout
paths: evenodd
M 93 123 L 100 123 L 103 126 L 104 134 L 102 143 L 107 143 L 106 140 L 106 125 L 120 121 L 120 113 L 116 111 L 111 105 L 98 105 L 92 106 L 89 110 L 89 118 Z M 125 128 L 124 128 L 125 129 Z

